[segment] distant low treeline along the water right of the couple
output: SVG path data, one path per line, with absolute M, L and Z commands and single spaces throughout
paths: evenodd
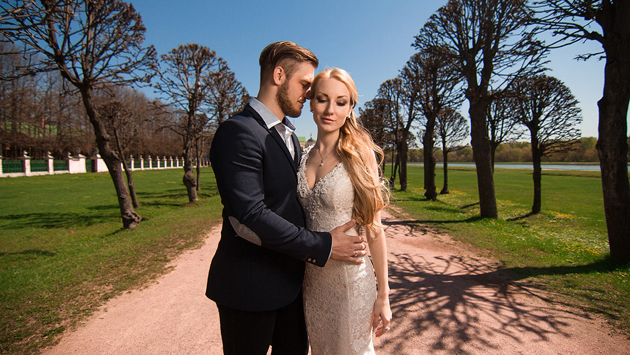
M 542 161 L 599 161 L 595 144 L 597 138 L 582 137 L 576 141 L 574 149 L 566 153 L 554 153 L 551 156 L 542 158 Z M 442 159 L 442 149 L 436 149 L 433 153 L 435 159 L 440 163 Z M 386 161 L 391 161 L 391 149 L 386 153 Z M 422 149 L 410 149 L 409 161 L 424 161 Z M 470 145 L 449 153 L 449 162 L 473 162 L 473 148 Z M 515 162 L 532 161 L 532 149 L 528 142 L 502 143 L 496 148 L 495 162 Z M 630 161 L 630 160 L 629 160 Z

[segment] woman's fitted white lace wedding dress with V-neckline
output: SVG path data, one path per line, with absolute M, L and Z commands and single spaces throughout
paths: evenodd
M 339 163 L 309 190 L 304 170 L 310 148 L 297 173 L 298 198 L 306 212 L 306 228 L 331 231 L 352 219 L 352 182 Z M 354 228 L 347 233 L 357 235 Z M 312 355 L 374 354 L 371 320 L 376 281 L 372 263 L 367 257 L 364 261 L 357 265 L 328 260 L 324 267 L 306 264 L 302 289 Z

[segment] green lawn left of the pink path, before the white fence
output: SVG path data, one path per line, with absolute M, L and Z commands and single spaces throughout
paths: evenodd
M 0 179 L 0 352 L 37 352 L 104 301 L 168 271 L 221 217 L 214 175 L 188 205 L 183 172 L 134 172 L 142 222 L 123 230 L 107 173 Z

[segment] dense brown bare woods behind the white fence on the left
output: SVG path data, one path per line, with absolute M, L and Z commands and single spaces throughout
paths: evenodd
M 60 159 L 67 153 L 92 154 L 96 150 L 93 129 L 77 93 L 64 88 L 58 72 L 20 76 L 27 65 L 16 47 L 0 43 L 0 155 L 17 158 L 23 151 L 41 158 L 51 152 Z M 124 156 L 178 156 L 181 140 L 170 131 L 157 131 L 157 110 L 141 92 L 132 88 L 112 88 L 96 95 L 99 103 L 122 103 L 129 117 L 122 125 Z

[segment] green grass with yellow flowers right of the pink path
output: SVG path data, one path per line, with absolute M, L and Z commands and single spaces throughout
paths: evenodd
M 483 219 L 474 169 L 449 168 L 451 193 L 438 195 L 437 202 L 424 197 L 422 169 L 409 166 L 408 191 L 394 193 L 401 216 L 481 248 L 508 274 L 630 333 L 630 265 L 609 261 L 599 172 L 543 172 L 542 212 L 530 215 L 531 171 L 496 169 L 499 218 Z M 442 179 L 438 168 L 438 192 Z

